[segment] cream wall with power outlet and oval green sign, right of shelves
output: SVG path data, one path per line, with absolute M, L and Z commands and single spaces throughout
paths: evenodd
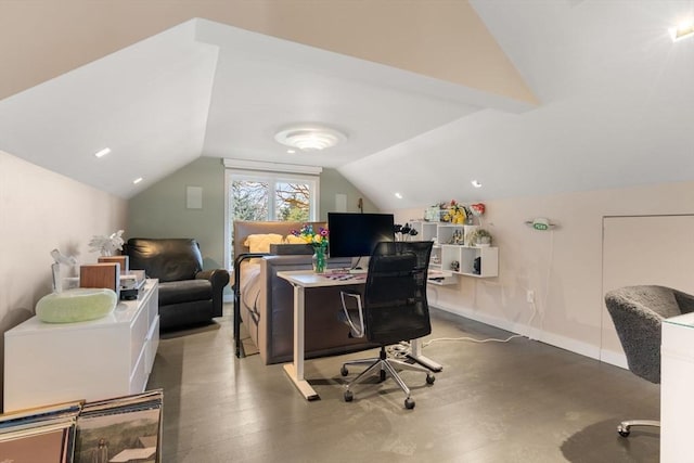
M 487 213 L 483 220 L 493 235 L 493 245 L 500 248 L 499 276 L 488 280 L 460 276 L 455 286 L 433 286 L 429 303 L 601 358 L 602 331 L 614 330 L 603 326 L 603 217 L 692 214 L 694 182 L 485 204 Z M 397 211 L 396 221 L 421 218 L 425 206 Z M 525 223 L 534 217 L 548 217 L 558 227 L 549 232 L 535 231 Z M 668 271 L 674 270 L 664 267 L 659 283 L 667 282 Z M 528 290 L 536 293 L 535 305 L 526 301 Z M 615 360 L 620 352 L 608 353 L 602 355 L 603 360 L 621 364 Z

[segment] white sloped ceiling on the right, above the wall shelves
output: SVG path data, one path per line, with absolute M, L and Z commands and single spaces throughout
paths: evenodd
M 343 166 L 380 207 L 692 180 L 694 42 L 667 31 L 692 2 L 473 4 L 542 106 L 476 113 Z

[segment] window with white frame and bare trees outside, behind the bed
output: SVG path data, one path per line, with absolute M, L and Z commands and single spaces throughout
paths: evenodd
M 229 237 L 226 243 L 227 268 L 233 267 L 234 220 L 314 221 L 318 219 L 319 176 L 321 169 L 296 165 L 271 165 L 226 159 L 227 213 Z M 271 168 L 274 171 L 261 170 Z M 290 171 L 280 172 L 281 168 Z

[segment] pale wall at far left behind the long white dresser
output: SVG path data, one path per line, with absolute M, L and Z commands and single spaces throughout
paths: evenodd
M 0 332 L 50 293 L 51 249 L 94 262 L 89 240 L 124 228 L 125 217 L 125 200 L 0 151 Z

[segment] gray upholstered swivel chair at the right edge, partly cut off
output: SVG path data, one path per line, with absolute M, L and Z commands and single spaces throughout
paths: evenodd
M 660 330 L 664 319 L 694 311 L 694 296 L 665 286 L 625 286 L 605 294 L 629 370 L 637 376 L 660 384 Z M 622 421 L 620 436 L 631 426 L 660 426 L 653 420 Z

